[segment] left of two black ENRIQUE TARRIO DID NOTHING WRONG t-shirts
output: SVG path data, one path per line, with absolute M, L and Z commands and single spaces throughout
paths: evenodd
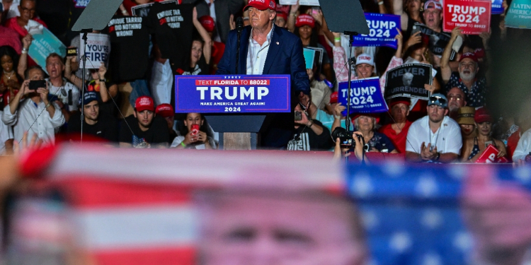
M 111 76 L 115 82 L 144 78 L 149 65 L 149 30 L 146 18 L 114 16 L 103 30 L 110 36 Z

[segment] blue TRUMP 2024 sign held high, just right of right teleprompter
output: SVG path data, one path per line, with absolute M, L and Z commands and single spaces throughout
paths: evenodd
M 396 28 L 400 28 L 400 16 L 365 13 L 365 20 L 370 34 L 353 36 L 353 46 L 387 46 L 396 49 L 394 37 L 398 34 Z

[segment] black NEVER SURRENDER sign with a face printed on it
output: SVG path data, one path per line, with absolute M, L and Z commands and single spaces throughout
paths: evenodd
M 385 98 L 406 97 L 428 100 L 425 84 L 431 85 L 430 64 L 403 64 L 387 71 Z

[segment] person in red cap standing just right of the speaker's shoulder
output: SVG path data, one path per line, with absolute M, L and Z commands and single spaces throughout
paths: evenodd
M 323 49 L 323 61 L 321 63 L 321 73 L 328 81 L 335 80 L 330 65 L 329 55 L 323 45 L 319 43 L 319 35 L 314 31 L 315 19 L 314 17 L 302 14 L 297 17 L 295 23 L 295 35 L 302 40 L 302 47 L 314 47 Z M 318 77 L 318 76 L 316 76 Z M 319 78 L 322 79 L 322 78 Z

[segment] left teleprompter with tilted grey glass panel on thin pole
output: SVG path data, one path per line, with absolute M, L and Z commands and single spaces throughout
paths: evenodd
M 84 51 L 86 51 L 86 34 L 91 33 L 92 30 L 103 30 L 113 18 L 114 13 L 122 4 L 122 0 L 91 0 L 86 6 L 81 16 L 77 19 L 72 27 L 72 31 L 79 31 L 83 33 Z M 86 55 L 81 54 L 83 61 L 83 86 L 85 86 L 85 71 L 86 71 Z M 84 120 L 84 100 L 85 88 L 81 88 L 81 143 L 83 142 L 83 120 Z

